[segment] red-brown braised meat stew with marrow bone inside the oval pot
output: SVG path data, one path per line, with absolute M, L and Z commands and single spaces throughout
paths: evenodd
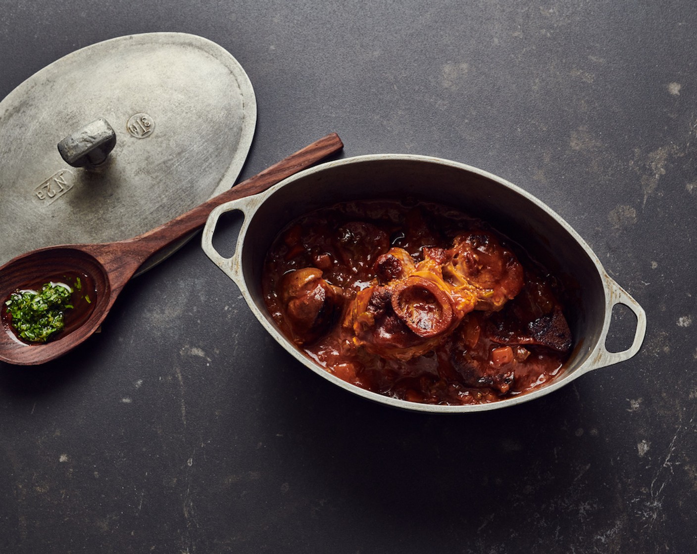
M 262 285 L 308 357 L 407 401 L 522 394 L 555 378 L 573 346 L 558 279 L 485 222 L 434 203 L 304 215 L 266 254 Z

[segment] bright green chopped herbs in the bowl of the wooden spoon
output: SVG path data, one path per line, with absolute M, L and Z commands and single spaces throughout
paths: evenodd
M 5 302 L 15 332 L 29 342 L 46 342 L 65 326 L 63 311 L 72 308 L 72 288 L 49 282 L 40 291 L 17 291 Z

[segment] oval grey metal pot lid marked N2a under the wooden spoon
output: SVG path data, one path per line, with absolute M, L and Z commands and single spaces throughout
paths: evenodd
M 131 238 L 198 206 L 233 185 L 255 125 L 242 66 L 199 36 L 123 36 L 64 56 L 0 102 L 0 264 Z

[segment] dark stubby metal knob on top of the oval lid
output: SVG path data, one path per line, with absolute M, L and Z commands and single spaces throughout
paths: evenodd
M 109 122 L 100 118 L 58 143 L 58 151 L 72 167 L 93 167 L 107 159 L 116 146 L 116 133 Z

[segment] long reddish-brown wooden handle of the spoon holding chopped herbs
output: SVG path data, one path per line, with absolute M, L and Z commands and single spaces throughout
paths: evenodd
M 124 251 L 128 250 L 128 256 L 132 261 L 137 261 L 138 266 L 160 249 L 171 245 L 180 238 L 191 233 L 195 229 L 204 226 L 210 211 L 222 203 L 263 192 L 269 187 L 284 180 L 302 169 L 312 166 L 324 157 L 336 153 L 344 144 L 336 133 L 314 141 L 294 154 L 285 157 L 280 162 L 264 169 L 261 173 L 244 180 L 217 197 L 202 203 L 200 206 L 189 210 L 170 222 L 155 227 L 135 238 L 121 241 Z M 125 254 L 125 252 L 124 252 Z

